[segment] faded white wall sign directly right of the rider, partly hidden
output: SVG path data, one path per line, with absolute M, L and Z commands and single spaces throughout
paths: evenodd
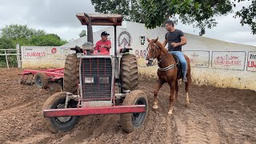
M 183 54 L 186 54 L 190 58 L 191 67 L 209 67 L 210 51 L 204 50 L 184 50 Z

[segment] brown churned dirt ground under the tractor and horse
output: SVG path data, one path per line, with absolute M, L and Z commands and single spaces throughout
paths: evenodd
M 52 134 L 42 125 L 42 104 L 50 91 L 18 85 L 21 71 L 0 69 L 0 143 L 256 143 L 256 93 L 212 86 L 191 86 L 191 104 L 186 107 L 180 85 L 169 116 L 170 88 L 164 85 L 159 110 L 150 108 L 146 124 L 131 134 L 122 130 L 119 115 L 86 116 L 73 130 Z M 150 107 L 154 85 L 139 83 Z

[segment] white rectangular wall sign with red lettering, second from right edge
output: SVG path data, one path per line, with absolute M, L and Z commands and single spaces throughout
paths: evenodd
M 226 70 L 244 70 L 246 52 L 244 51 L 213 51 L 212 68 Z

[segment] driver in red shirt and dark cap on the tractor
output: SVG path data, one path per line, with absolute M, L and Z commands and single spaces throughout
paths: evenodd
M 102 54 L 110 54 L 111 42 L 107 39 L 106 31 L 103 31 L 101 34 L 102 39 L 96 42 L 95 50 Z

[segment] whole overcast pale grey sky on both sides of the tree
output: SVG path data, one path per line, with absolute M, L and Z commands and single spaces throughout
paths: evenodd
M 238 8 L 248 6 L 250 2 L 242 2 Z M 94 13 L 90 0 L 0 0 L 0 29 L 10 24 L 26 24 L 34 29 L 46 30 L 47 33 L 58 34 L 61 38 L 79 38 L 78 34 L 85 29 L 76 18 L 77 13 Z M 241 26 L 239 19 L 228 14 L 216 18 L 218 26 L 206 29 L 204 37 L 216 38 L 227 42 L 237 42 L 256 46 L 256 35 L 251 34 L 249 26 Z M 102 26 L 94 26 L 100 30 Z M 176 28 L 197 34 L 198 29 L 178 24 Z

